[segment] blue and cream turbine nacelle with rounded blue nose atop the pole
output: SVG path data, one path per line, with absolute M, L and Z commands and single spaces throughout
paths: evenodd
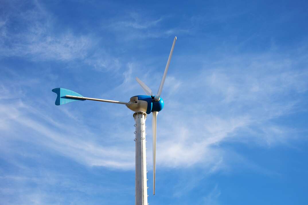
M 134 112 L 142 111 L 150 114 L 151 112 L 161 111 L 164 108 L 164 101 L 162 98 L 155 101 L 155 96 L 137 95 L 131 97 L 129 104 L 126 106 Z

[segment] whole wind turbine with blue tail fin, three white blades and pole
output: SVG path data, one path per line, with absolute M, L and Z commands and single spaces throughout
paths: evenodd
M 158 88 L 157 94 L 154 96 L 152 90 L 145 85 L 138 77 L 136 81 L 140 84 L 142 89 L 147 95 L 136 95 L 130 98 L 129 102 L 104 100 L 98 98 L 83 97 L 79 93 L 72 90 L 64 88 L 52 89 L 52 92 L 57 93 L 57 99 L 55 101 L 56 105 L 62 105 L 73 101 L 101 101 L 116 104 L 125 104 L 129 109 L 134 111 L 133 117 L 135 119 L 135 145 L 136 145 L 136 175 L 135 175 L 135 185 L 136 185 L 136 205 L 147 205 L 148 195 L 147 195 L 147 180 L 146 179 L 146 155 L 145 155 L 145 120 L 147 114 L 152 112 L 152 138 L 153 138 L 153 195 L 155 195 L 155 172 L 156 172 L 156 124 L 157 124 L 157 114 L 164 108 L 164 101 L 160 97 L 163 90 L 164 82 L 167 76 L 168 68 L 170 65 L 174 45 L 176 42 L 176 37 L 174 37 L 171 51 L 168 57 L 167 65 L 165 67 L 163 78 L 161 79 L 160 86 Z

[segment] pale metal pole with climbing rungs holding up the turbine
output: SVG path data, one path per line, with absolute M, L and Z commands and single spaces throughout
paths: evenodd
M 136 143 L 136 175 L 135 175 L 135 201 L 136 205 L 148 205 L 147 191 L 147 164 L 145 154 L 145 120 L 147 113 L 135 112 L 135 143 Z

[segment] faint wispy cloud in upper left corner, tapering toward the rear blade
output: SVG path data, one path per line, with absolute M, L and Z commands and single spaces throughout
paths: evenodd
M 39 2 L 9 3 L 6 7 L 18 12 L 0 16 L 0 57 L 25 57 L 31 61 L 76 60 L 98 71 L 121 67 L 119 58 L 104 48 L 97 48 L 100 38 L 95 35 L 75 34 L 70 28 L 59 33 L 56 28 L 59 20 Z

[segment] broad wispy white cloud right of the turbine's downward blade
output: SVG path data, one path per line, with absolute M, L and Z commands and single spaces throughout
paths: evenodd
M 171 167 L 209 165 L 209 170 L 219 170 L 227 163 L 216 164 L 226 158 L 220 149 L 224 142 L 272 146 L 291 140 L 290 133 L 296 130 L 272 120 L 298 112 L 298 104 L 304 102 L 308 73 L 305 68 L 293 69 L 297 60 L 282 60 L 275 54 L 237 57 L 236 61 L 228 57 L 185 78 L 186 83 L 178 79 L 178 88 L 164 96 L 175 103 L 164 110 L 167 114 L 158 116 L 157 163 Z M 170 89 L 168 84 L 164 89 Z M 179 96 L 184 104 L 179 103 Z M 252 134 L 253 130 L 262 134 Z

